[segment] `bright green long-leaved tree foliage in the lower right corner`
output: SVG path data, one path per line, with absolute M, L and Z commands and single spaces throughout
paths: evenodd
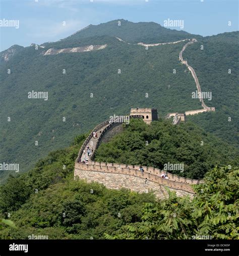
M 238 239 L 239 169 L 215 167 L 194 185 L 195 197 L 146 203 L 141 221 L 107 239 Z

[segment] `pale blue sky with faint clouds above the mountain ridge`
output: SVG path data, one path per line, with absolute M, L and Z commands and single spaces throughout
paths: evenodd
M 183 30 L 203 36 L 238 30 L 238 0 L 201 1 L 0 0 L 0 20 L 19 20 L 18 29 L 0 27 L 0 51 L 57 41 L 89 24 L 116 19 L 161 25 L 166 19 L 184 20 Z

